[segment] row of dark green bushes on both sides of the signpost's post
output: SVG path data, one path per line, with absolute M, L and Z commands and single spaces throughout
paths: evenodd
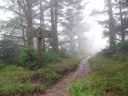
M 42 66 L 62 60 L 60 54 L 43 51 Z M 37 51 L 31 46 L 21 47 L 11 39 L 0 40 L 0 67 L 16 65 L 29 70 L 37 69 Z

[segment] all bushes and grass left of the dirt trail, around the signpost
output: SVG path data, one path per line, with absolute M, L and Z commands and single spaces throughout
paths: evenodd
M 11 42 L 11 43 L 10 43 Z M 42 67 L 37 67 L 37 51 L 18 47 L 14 41 L 0 41 L 0 96 L 36 96 L 74 71 L 83 56 L 65 51 L 43 51 Z

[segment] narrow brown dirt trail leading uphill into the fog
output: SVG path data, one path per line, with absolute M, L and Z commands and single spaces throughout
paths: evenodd
M 45 94 L 40 96 L 68 96 L 69 87 L 72 82 L 76 82 L 79 78 L 88 75 L 91 70 L 88 63 L 90 57 L 81 61 L 79 68 L 70 73 L 67 76 L 64 76 L 56 85 L 51 89 L 47 90 Z

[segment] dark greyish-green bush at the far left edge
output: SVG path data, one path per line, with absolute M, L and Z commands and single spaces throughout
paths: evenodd
M 6 64 L 17 62 L 19 51 L 18 45 L 11 39 L 0 40 L 0 60 Z

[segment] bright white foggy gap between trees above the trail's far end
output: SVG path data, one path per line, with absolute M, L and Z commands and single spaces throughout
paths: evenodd
M 84 0 L 87 2 L 88 0 Z M 93 39 L 93 50 L 100 51 L 108 45 L 108 39 L 103 38 L 103 27 L 99 25 L 96 20 L 104 20 L 104 16 L 90 16 L 93 10 L 103 10 L 104 0 L 89 0 L 89 4 L 83 10 L 85 20 L 88 20 L 91 26 L 89 32 L 86 35 Z

